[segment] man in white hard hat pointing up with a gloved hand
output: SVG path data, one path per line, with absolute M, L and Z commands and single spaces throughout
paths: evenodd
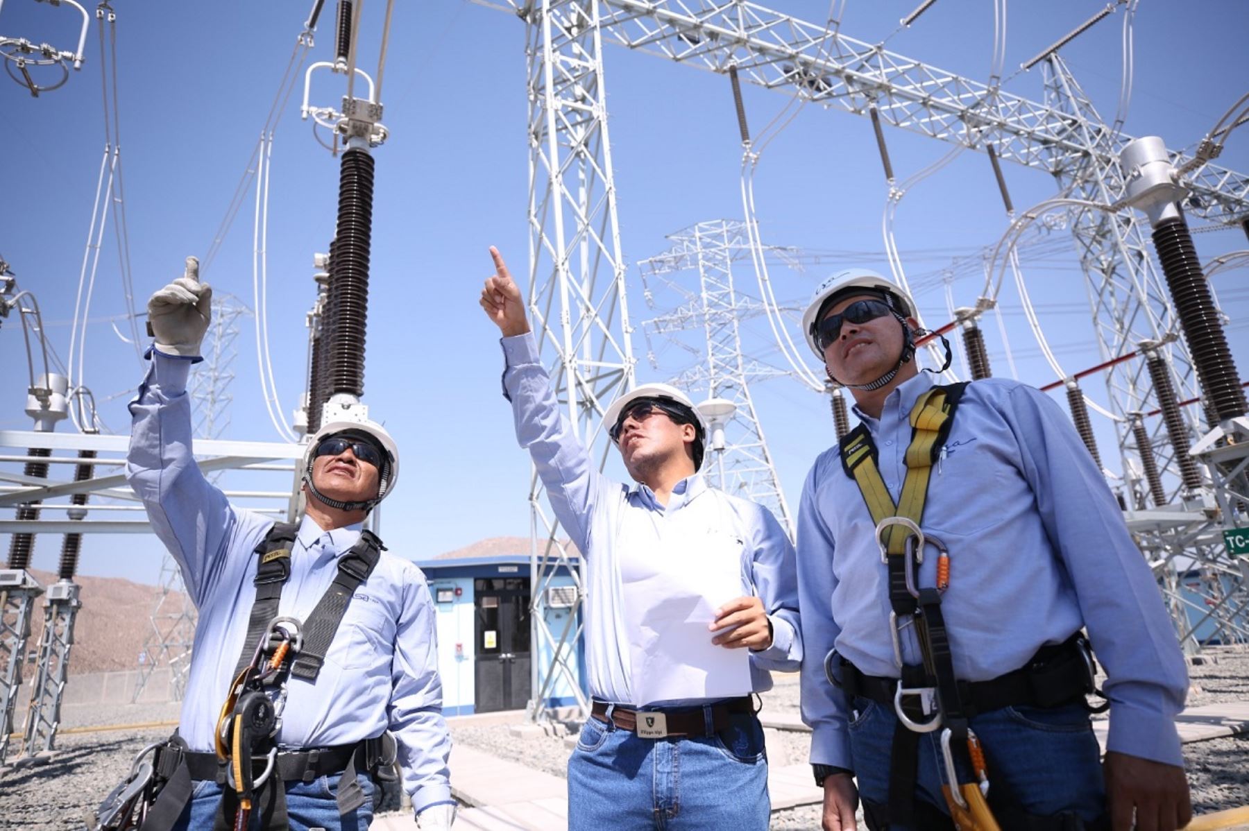
M 421 570 L 363 528 L 398 483 L 398 448 L 362 406 L 327 407 L 301 463 L 304 517 L 231 505 L 191 455 L 186 381 L 212 294 L 197 271 L 189 258 L 152 294 L 151 364 L 130 404 L 130 485 L 199 609 L 142 827 L 365 829 L 397 762 L 420 827 L 448 829 L 433 604 Z

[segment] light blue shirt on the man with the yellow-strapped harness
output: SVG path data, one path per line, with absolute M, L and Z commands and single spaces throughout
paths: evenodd
M 911 408 L 932 386 L 928 374 L 908 379 L 886 398 L 879 419 L 854 411 L 894 502 L 907 473 Z M 1109 750 L 1183 764 L 1173 719 L 1188 674 L 1175 631 L 1102 472 L 1054 402 L 1014 381 L 968 384 L 921 527 L 949 548 L 942 615 L 960 680 L 1018 669 L 1085 626 L 1108 675 Z M 926 556 L 921 586 L 936 584 L 936 569 L 937 558 Z M 811 761 L 853 769 L 844 696 L 824 676 L 824 655 L 836 645 L 867 675 L 897 678 L 898 668 L 874 523 L 837 447 L 816 459 L 803 487 L 798 584 Z M 919 661 L 913 630 L 903 630 L 908 663 Z

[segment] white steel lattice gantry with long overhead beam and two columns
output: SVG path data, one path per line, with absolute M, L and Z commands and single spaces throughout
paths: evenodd
M 605 41 L 643 50 L 678 64 L 741 79 L 858 116 L 876 112 L 883 125 L 952 145 L 988 152 L 999 160 L 1042 170 L 1059 192 L 1107 206 L 1124 197 L 1119 153 L 1132 140 L 1098 115 L 1057 51 L 1040 69 L 1044 100 L 1030 101 L 997 86 L 963 77 L 892 52 L 879 44 L 849 37 L 839 26 L 812 24 L 741 0 L 508 0 L 506 7 L 526 22 L 530 97 L 530 307 L 541 356 L 551 369 L 557 398 L 583 444 L 606 460 L 601 415 L 633 377 L 633 352 L 620 256 L 616 187 L 602 77 Z M 1190 157 L 1168 151 L 1175 167 Z M 1249 216 L 1249 178 L 1204 163 L 1188 171 L 1184 208 L 1215 225 L 1239 225 Z M 1143 220 L 1130 210 L 1074 212 L 1074 236 L 1104 359 L 1150 344 L 1165 362 L 1175 394 L 1203 391 L 1188 344 L 1173 334 L 1175 318 L 1167 283 L 1149 252 Z M 1129 349 L 1130 347 L 1130 349 Z M 1173 576 L 1199 571 L 1217 590 L 1204 593 L 1210 620 L 1223 636 L 1243 639 L 1249 570 L 1218 544 L 1218 530 L 1245 524 L 1249 509 L 1247 458 L 1228 442 L 1204 448 L 1205 472 L 1198 488 L 1185 488 L 1177 457 L 1207 433 L 1192 411 L 1182 415 L 1182 435 L 1157 420 L 1150 447 L 1132 434 L 1134 413 L 1154 409 L 1144 362 L 1118 364 L 1105 373 L 1119 434 L 1124 472 L 1144 470 L 1143 453 L 1172 438 L 1188 438 L 1157 459 L 1170 483 L 1168 503 L 1142 510 L 1128 504 L 1125 518 L 1155 565 L 1173 615 L 1189 603 Z M 1162 404 L 1160 404 L 1162 406 Z M 1240 414 L 1243 417 L 1243 413 Z M 1213 427 L 1213 425 L 1212 425 Z M 1223 454 L 1223 455 L 1220 455 Z M 1180 484 L 1175 484 L 1179 482 Z M 552 660 L 533 661 L 531 717 L 546 710 L 546 696 L 560 679 L 573 683 L 577 620 L 585 581 L 566 620 L 552 633 L 543 623 L 547 589 L 560 566 L 575 575 L 558 528 L 531 478 L 533 643 L 551 649 Z M 1177 563 L 1177 560 L 1179 560 Z M 1195 640 L 1188 618 L 1175 620 L 1185 641 Z

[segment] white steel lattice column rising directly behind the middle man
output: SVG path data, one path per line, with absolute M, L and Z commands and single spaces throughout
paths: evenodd
M 603 89 L 598 0 L 537 0 L 526 22 L 530 141 L 530 314 L 543 364 L 573 434 L 600 467 L 610 443 L 602 414 L 633 381 L 616 185 Z M 585 571 L 558 540 L 558 520 L 530 478 L 532 650 L 530 715 L 548 699 L 588 701 L 577 679 Z M 546 623 L 552 578 L 573 575 L 577 596 L 560 631 Z M 545 660 L 543 655 L 550 659 Z

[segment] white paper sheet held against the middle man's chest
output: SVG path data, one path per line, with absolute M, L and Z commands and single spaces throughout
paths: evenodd
M 682 547 L 626 581 L 634 704 L 751 692 L 749 653 L 711 643 L 716 609 L 743 594 L 739 552 Z M 702 549 L 702 550 L 698 550 Z M 669 549 L 671 550 L 671 549 Z

